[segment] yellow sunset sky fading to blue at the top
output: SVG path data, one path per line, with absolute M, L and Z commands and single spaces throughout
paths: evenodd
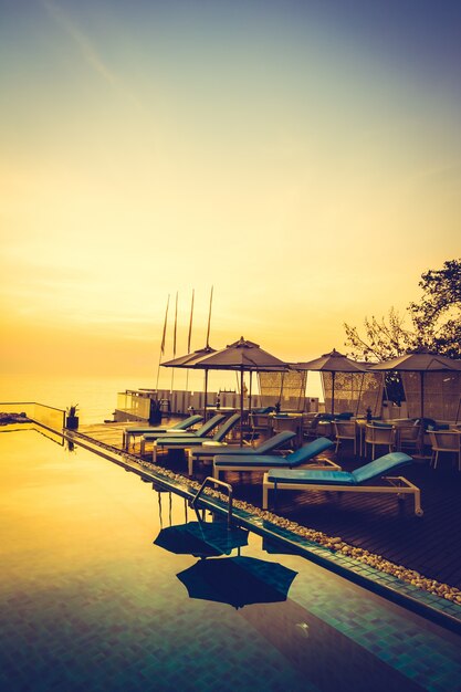
M 0 0 L 0 371 L 344 346 L 461 256 L 461 3 Z

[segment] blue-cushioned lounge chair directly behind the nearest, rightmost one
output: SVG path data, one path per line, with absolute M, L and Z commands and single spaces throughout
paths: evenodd
M 274 468 L 293 469 L 311 461 L 327 449 L 334 447 L 335 443 L 327 438 L 317 438 L 307 444 L 304 444 L 295 452 L 290 452 L 285 457 L 276 457 L 274 454 L 217 454 L 213 462 L 213 475 L 219 479 L 221 471 L 266 471 Z M 322 459 L 311 465 L 311 469 L 332 469 L 338 470 L 334 461 Z

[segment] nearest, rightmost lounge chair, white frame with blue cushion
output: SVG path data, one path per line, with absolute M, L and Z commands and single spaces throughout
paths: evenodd
M 408 464 L 412 458 L 404 452 L 390 452 L 375 461 L 356 469 L 352 473 L 346 471 L 311 471 L 296 469 L 270 469 L 264 474 L 262 506 L 268 508 L 269 490 L 303 490 L 303 491 L 333 491 L 352 493 L 387 493 L 401 500 L 404 495 L 412 495 L 415 514 L 422 516 L 420 490 L 402 476 L 387 476 L 388 471 Z M 367 481 L 379 479 L 387 484 L 365 485 Z

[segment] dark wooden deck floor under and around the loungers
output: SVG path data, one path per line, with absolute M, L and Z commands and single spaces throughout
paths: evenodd
M 102 423 L 81 427 L 80 432 L 121 450 L 124 427 Z M 135 452 L 139 452 L 139 443 Z M 347 451 L 329 457 L 347 471 L 364 463 Z M 144 459 L 150 458 L 148 449 Z M 159 454 L 158 465 L 187 476 L 186 458 L 180 451 Z M 195 480 L 202 481 L 207 475 L 211 475 L 210 465 L 198 464 Z M 461 473 L 448 458 L 437 470 L 430 466 L 429 459 L 417 460 L 404 468 L 400 475 L 421 489 L 422 517 L 412 513 L 410 497 L 399 503 L 392 496 L 359 493 L 286 491 L 279 493 L 272 508 L 303 526 L 339 536 L 425 577 L 461 588 Z M 232 484 L 238 500 L 261 506 L 261 472 L 228 472 L 223 480 Z

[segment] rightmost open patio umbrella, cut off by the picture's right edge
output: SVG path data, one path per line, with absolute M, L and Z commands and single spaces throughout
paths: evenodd
M 398 373 L 419 373 L 420 397 L 419 413 L 420 418 L 425 418 L 425 380 L 428 373 L 453 373 L 461 371 L 461 360 L 447 358 L 439 354 L 428 350 L 417 350 L 413 353 L 398 356 L 391 360 L 377 363 L 369 367 L 370 370 L 396 370 Z M 459 408 L 459 407 L 458 407 Z M 458 413 L 457 413 L 458 420 Z M 423 427 L 423 421 L 422 421 Z

